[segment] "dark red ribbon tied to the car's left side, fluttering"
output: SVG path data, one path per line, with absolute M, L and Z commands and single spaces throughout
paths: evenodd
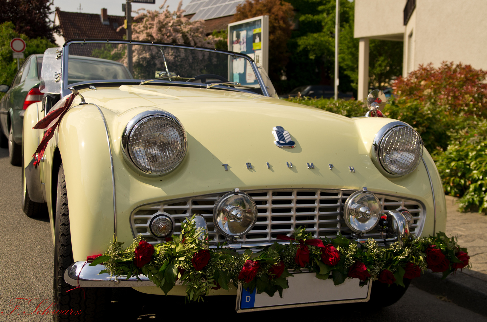
M 61 122 L 62 117 L 64 116 L 64 114 L 66 114 L 69 107 L 73 103 L 75 96 L 76 96 L 75 94 L 71 93 L 61 98 L 61 100 L 53 106 L 53 109 L 42 120 L 40 120 L 39 122 L 37 122 L 36 125 L 34 125 L 33 128 L 35 129 L 44 129 L 48 127 L 57 118 L 56 123 L 53 124 L 44 132 L 42 141 L 39 143 L 39 146 L 37 146 L 36 152 L 34 152 L 34 154 L 32 155 L 32 157 L 36 160 L 34 161 L 34 166 L 36 167 L 36 169 L 37 169 L 37 164 L 39 164 L 40 160 L 44 156 L 44 151 L 46 150 L 47 143 L 49 143 L 49 140 L 51 140 L 51 138 L 53 137 L 54 130 L 56 129 L 57 125 L 59 125 L 59 122 Z

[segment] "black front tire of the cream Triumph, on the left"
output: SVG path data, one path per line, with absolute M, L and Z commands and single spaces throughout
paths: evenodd
M 71 247 L 71 231 L 69 225 L 68 195 L 62 164 L 57 176 L 56 196 L 56 227 L 54 244 L 54 288 L 53 288 L 53 320 L 68 321 L 102 321 L 105 309 L 110 303 L 112 289 L 107 287 L 75 288 L 64 281 L 64 271 L 74 263 Z M 62 312 L 79 312 L 61 314 Z

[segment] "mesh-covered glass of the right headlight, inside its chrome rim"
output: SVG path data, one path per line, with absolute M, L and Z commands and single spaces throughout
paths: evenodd
M 404 176 L 416 169 L 423 156 L 423 140 L 409 126 L 395 126 L 382 137 L 378 157 L 390 174 Z

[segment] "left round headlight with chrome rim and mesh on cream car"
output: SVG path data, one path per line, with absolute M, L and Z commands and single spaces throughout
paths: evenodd
M 186 132 L 171 113 L 149 110 L 127 124 L 122 148 L 137 169 L 150 175 L 163 175 L 183 161 L 187 150 Z

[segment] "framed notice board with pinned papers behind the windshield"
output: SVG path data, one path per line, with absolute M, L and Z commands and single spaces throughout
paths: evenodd
M 228 24 L 228 50 L 254 59 L 257 66 L 269 71 L 269 16 L 259 16 Z M 228 79 L 258 86 L 250 64 L 244 58 L 233 58 L 228 66 Z

